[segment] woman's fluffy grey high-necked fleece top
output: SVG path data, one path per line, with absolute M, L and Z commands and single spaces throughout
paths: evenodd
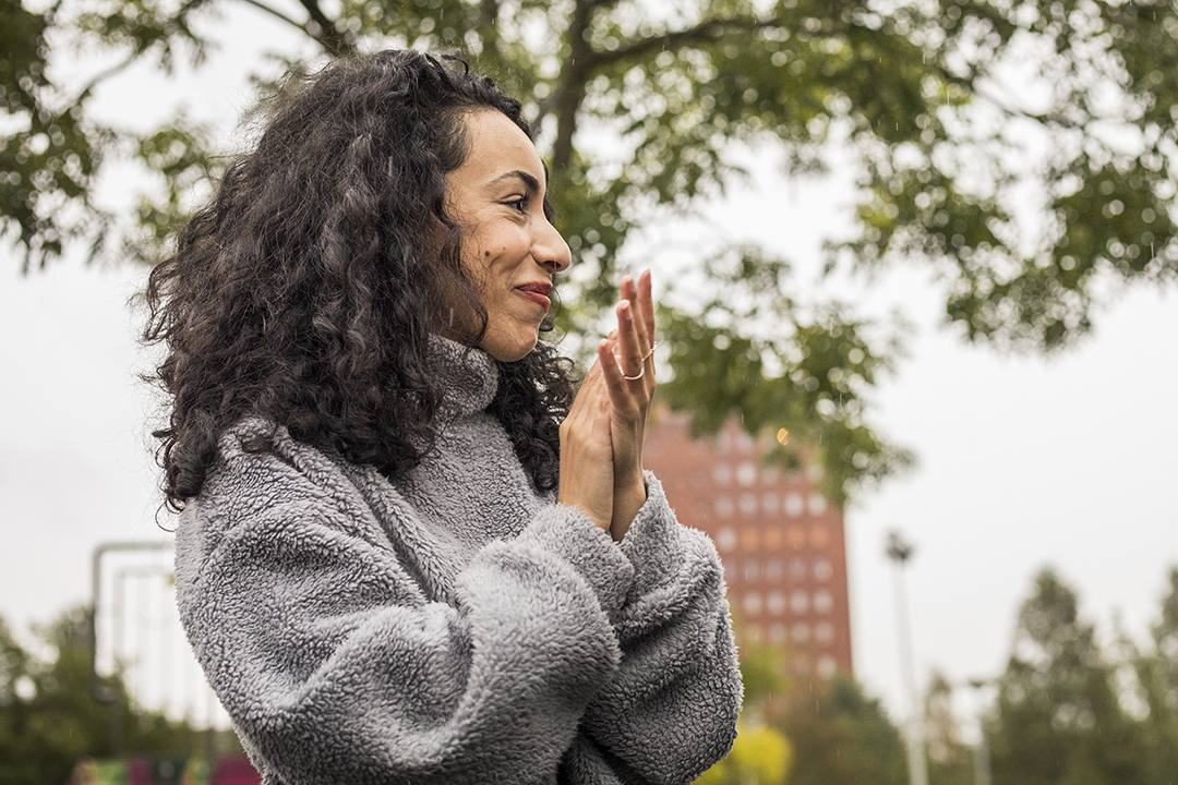
M 405 479 L 283 428 L 250 452 L 246 420 L 181 514 L 184 627 L 264 781 L 690 781 L 741 698 L 710 540 L 653 474 L 621 544 L 538 495 L 494 361 L 437 346 L 446 426 Z

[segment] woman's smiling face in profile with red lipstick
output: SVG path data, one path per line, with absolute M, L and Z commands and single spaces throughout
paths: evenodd
M 511 362 L 536 347 L 552 273 L 571 255 L 544 217 L 544 166 L 531 140 L 494 109 L 465 124 L 470 154 L 446 174 L 446 208 L 462 226 L 462 264 L 487 308 L 479 348 Z

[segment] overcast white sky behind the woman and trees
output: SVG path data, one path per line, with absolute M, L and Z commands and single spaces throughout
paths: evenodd
M 247 56 L 254 41 L 283 34 L 256 14 L 230 21 L 240 42 L 214 61 Z M 227 132 L 247 105 L 238 80 L 227 66 L 178 86 L 132 74 L 102 100 L 146 121 L 186 97 L 194 114 Z M 848 197 L 836 185 L 772 174 L 737 191 L 708 208 L 712 221 L 802 270 L 816 264 L 822 234 L 839 231 Z M 669 273 L 690 231 L 651 232 L 631 261 Z M 98 543 L 154 545 L 166 534 L 154 521 L 150 397 L 134 378 L 146 361 L 126 307 L 144 271 L 65 260 L 22 278 L 18 268 L 16 255 L 0 250 L 0 614 L 25 630 L 87 599 Z M 911 355 L 875 395 L 874 421 L 920 460 L 847 513 L 859 678 L 896 713 L 906 709 L 882 556 L 892 527 L 918 548 L 909 596 L 921 680 L 932 667 L 958 680 L 997 674 L 1018 604 L 1048 564 L 1107 633 L 1119 616 L 1143 636 L 1178 564 L 1176 293 L 1125 294 L 1091 338 L 1045 360 L 964 346 L 938 327 L 937 291 L 920 273 L 859 291 L 918 326 Z

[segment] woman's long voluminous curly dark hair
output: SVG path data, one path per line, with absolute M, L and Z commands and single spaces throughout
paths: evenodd
M 443 380 L 429 335 L 451 307 L 474 314 L 466 346 L 487 330 L 444 209 L 445 174 L 469 154 L 463 119 L 495 109 L 531 138 L 518 101 L 448 60 L 390 51 L 287 74 L 257 148 L 152 270 L 144 340 L 168 350 L 151 379 L 172 401 L 153 432 L 170 508 L 200 492 L 219 435 L 246 415 L 390 479 L 432 447 Z M 541 342 L 498 366 L 489 411 L 537 490 L 555 488 L 569 364 Z

